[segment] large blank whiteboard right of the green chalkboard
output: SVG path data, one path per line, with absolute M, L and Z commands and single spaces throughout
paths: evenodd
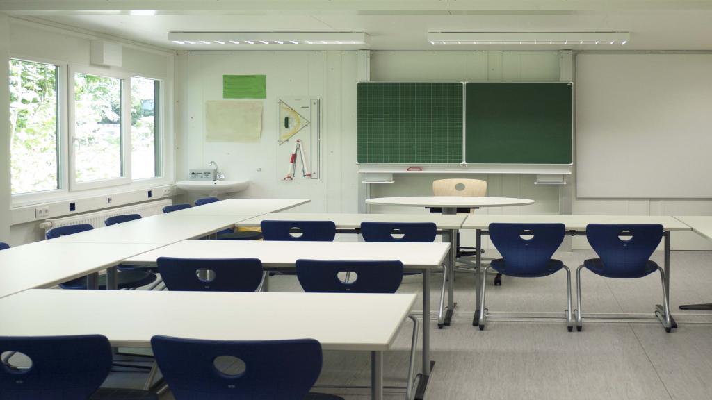
M 712 55 L 580 53 L 577 196 L 712 198 Z

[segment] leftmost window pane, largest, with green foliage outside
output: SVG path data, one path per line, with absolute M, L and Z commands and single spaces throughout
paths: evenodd
M 57 69 L 10 60 L 12 194 L 59 187 Z

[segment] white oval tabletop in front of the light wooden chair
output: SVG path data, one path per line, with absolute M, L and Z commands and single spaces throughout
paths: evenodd
M 489 196 L 407 196 L 367 199 L 366 204 L 407 207 L 504 207 L 533 204 L 530 199 Z

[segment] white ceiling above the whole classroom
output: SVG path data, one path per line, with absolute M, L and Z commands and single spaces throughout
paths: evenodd
M 432 46 L 427 31 L 629 31 L 626 46 L 565 47 L 712 50 L 712 0 L 0 0 L 0 11 L 182 50 L 226 47 L 177 45 L 169 31 L 365 31 L 380 51 L 564 48 Z M 229 47 L 240 49 L 278 46 Z

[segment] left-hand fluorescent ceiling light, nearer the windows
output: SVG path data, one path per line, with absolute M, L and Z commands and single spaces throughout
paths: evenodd
M 169 32 L 180 45 L 213 46 L 368 46 L 364 32 Z

